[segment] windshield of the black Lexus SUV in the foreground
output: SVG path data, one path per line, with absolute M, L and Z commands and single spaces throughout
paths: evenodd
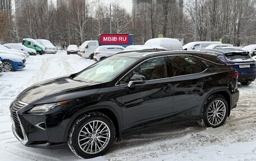
M 132 65 L 137 59 L 112 56 L 95 63 L 74 77 L 74 80 L 90 83 L 103 83 L 113 80 L 117 75 Z

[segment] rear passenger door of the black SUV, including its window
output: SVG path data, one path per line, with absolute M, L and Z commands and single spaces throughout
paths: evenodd
M 196 116 L 203 102 L 204 85 L 212 80 L 200 59 L 189 55 L 168 56 L 172 70 L 173 114 Z M 210 75 L 210 74 L 209 74 Z

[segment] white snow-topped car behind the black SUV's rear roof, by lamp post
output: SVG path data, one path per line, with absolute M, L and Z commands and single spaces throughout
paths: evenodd
M 221 42 L 190 42 L 183 45 L 183 50 L 200 50 L 208 47 L 211 44 L 222 44 Z

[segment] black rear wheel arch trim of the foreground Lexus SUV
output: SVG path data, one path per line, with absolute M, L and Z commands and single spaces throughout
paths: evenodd
M 231 111 L 231 93 L 228 89 L 215 89 L 211 92 L 209 92 L 207 94 L 207 96 L 205 96 L 205 99 L 203 101 L 203 104 L 202 104 L 202 107 L 201 107 L 201 110 L 200 110 L 200 115 L 202 114 L 203 112 L 203 106 L 204 104 L 207 102 L 207 99 L 212 96 L 212 95 L 221 95 L 223 96 L 226 101 L 227 101 L 227 105 L 228 105 L 228 113 L 227 113 L 227 116 L 230 116 L 230 111 Z

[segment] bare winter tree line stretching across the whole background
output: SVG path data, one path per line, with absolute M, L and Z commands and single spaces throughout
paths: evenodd
M 80 45 L 110 31 L 109 4 L 67 0 L 66 3 L 24 1 L 15 12 L 0 11 L 0 43 L 20 43 L 23 38 L 48 39 L 55 45 Z M 236 46 L 256 44 L 256 0 L 198 0 L 197 40 Z M 120 0 L 111 3 L 113 34 L 134 34 L 134 44 L 144 44 L 159 34 L 184 43 L 194 40 L 195 0 L 183 6 L 175 1 L 144 3 L 127 12 Z

